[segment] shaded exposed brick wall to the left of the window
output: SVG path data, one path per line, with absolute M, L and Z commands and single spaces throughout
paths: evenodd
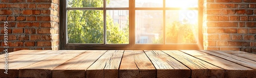
M 8 49 L 58 50 L 59 0 L 0 0 L 0 48 L 8 21 Z

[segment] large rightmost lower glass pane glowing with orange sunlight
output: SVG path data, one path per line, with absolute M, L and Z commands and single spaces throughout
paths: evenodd
M 196 44 L 198 11 L 166 11 L 166 44 Z

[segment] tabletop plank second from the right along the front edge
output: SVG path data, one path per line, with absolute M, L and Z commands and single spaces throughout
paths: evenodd
M 191 69 L 191 77 L 224 77 L 224 69 L 209 64 L 183 52 L 163 51 Z

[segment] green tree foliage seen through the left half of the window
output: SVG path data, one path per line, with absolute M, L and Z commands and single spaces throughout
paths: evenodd
M 70 0 L 68 6 L 102 7 L 102 3 L 102 0 Z M 102 10 L 69 10 L 67 20 L 69 43 L 103 43 Z M 120 30 L 119 24 L 114 23 L 109 15 L 106 15 L 106 20 L 108 44 L 129 43 L 129 32 Z

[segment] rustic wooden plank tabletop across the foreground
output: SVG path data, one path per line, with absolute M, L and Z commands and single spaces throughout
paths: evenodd
M 21 50 L 1 77 L 256 77 L 256 55 L 206 50 Z

